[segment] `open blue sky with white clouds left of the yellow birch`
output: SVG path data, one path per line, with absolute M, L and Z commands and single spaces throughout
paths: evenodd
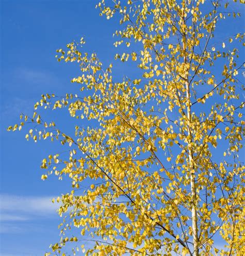
M 96 51 L 105 65 L 113 59 L 117 23 L 99 16 L 97 1 L 23 1 L 1 2 L 1 256 L 43 255 L 57 242 L 53 197 L 70 189 L 50 176 L 44 182 L 41 160 L 57 151 L 57 144 L 25 140 L 26 130 L 7 132 L 19 122 L 21 112 L 32 113 L 41 94 L 64 95 L 74 90 L 70 79 L 78 74 L 71 64 L 58 63 L 56 49 L 73 39 L 85 37 L 85 50 Z M 236 6 L 234 6 L 236 8 Z M 230 24 L 231 26 L 234 24 Z M 234 28 L 234 31 L 236 28 Z M 234 32 L 235 33 L 235 32 Z M 225 30 L 220 32 L 220 37 Z M 116 77 L 133 76 L 129 65 L 117 64 Z M 66 116 L 58 115 L 59 121 Z

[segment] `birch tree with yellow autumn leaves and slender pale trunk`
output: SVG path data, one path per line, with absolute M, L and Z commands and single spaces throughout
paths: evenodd
M 71 180 L 71 191 L 54 199 L 64 220 L 52 253 L 66 255 L 67 243 L 80 255 L 245 253 L 244 41 L 219 35 L 231 22 L 242 29 L 232 5 L 102 0 L 101 16 L 118 21 L 111 64 L 85 53 L 83 38 L 57 50 L 58 61 L 80 67 L 71 80 L 78 93 L 44 94 L 33 116 L 9 127 L 28 123 L 27 140 L 68 148 L 41 164 L 42 179 Z M 133 77 L 113 75 L 119 61 Z M 74 133 L 45 122 L 40 108 L 69 111 Z

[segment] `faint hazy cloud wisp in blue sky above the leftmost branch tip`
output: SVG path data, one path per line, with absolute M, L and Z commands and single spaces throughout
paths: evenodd
M 9 78 L 10 79 L 7 79 Z M 16 119 L 20 112 L 29 114 L 41 94 L 53 93 L 59 78 L 49 70 L 18 67 L 13 72 L 4 74 L 1 115 L 3 119 Z M 14 87 L 14 91 L 12 90 Z

